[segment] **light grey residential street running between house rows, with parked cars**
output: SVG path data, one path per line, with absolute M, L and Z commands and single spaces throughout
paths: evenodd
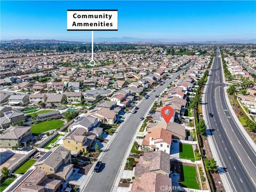
M 83 191 L 110 191 L 114 185 L 116 175 L 118 174 L 119 167 L 122 164 L 123 158 L 129 147 L 129 144 L 133 138 L 137 127 L 140 124 L 140 117 L 143 117 L 151 104 L 155 101 L 155 95 L 161 93 L 171 82 L 174 82 L 175 77 L 180 75 L 183 71 L 191 67 L 193 63 L 185 66 L 178 73 L 173 74 L 171 79 L 167 79 L 166 83 L 162 86 L 158 86 L 155 92 L 150 94 L 148 99 L 144 99 L 139 107 L 137 113 L 132 114 L 125 120 L 125 123 L 121 127 L 121 130 L 117 133 L 114 140 L 109 145 L 107 152 L 102 156 L 101 161 L 105 163 L 104 169 L 99 173 L 93 173 L 89 182 Z

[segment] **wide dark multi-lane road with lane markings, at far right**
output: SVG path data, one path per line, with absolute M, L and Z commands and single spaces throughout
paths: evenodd
M 227 106 L 219 55 L 218 50 L 205 95 L 206 123 L 231 190 L 256 191 L 255 149 L 244 138 Z M 209 117 L 210 112 L 214 117 Z

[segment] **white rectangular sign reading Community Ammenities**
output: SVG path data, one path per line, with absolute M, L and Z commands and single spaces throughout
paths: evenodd
M 118 10 L 68 10 L 67 30 L 118 30 Z

